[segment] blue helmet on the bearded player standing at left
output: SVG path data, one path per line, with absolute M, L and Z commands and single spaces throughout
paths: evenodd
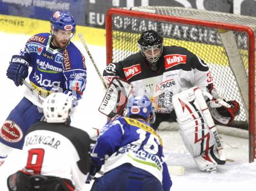
M 51 27 L 55 30 L 72 31 L 73 35 L 76 33 L 76 23 L 73 16 L 67 11 L 57 10 L 51 19 Z

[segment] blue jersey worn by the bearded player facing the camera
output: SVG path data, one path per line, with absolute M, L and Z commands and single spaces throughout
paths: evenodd
M 72 42 L 64 49 L 50 48 L 51 38 L 49 33 L 36 34 L 20 52 L 32 67 L 30 83 L 44 97 L 62 91 L 80 99 L 86 88 L 85 58 Z

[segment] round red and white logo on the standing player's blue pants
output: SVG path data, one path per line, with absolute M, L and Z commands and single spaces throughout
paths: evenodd
M 16 143 L 23 138 L 23 132 L 19 125 L 7 120 L 1 128 L 0 136 L 8 142 Z

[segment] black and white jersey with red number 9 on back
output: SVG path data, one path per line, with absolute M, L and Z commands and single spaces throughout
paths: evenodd
M 64 124 L 37 122 L 27 132 L 23 150 L 23 172 L 70 179 L 76 188 L 90 168 L 88 134 Z

